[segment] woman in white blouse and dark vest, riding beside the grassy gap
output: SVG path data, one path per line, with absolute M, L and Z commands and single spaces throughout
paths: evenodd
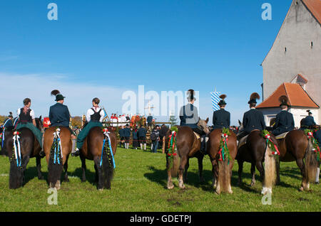
M 77 137 L 77 148 L 76 151 L 71 154 L 72 156 L 78 156 L 79 149 L 83 146 L 83 141 L 85 140 L 86 136 L 88 135 L 89 131 L 93 127 L 103 127 L 103 117 L 105 117 L 105 112 L 103 112 L 103 109 L 101 109 L 98 104 L 101 102 L 97 97 L 93 98 L 93 107 L 88 109 L 87 111 L 87 122 L 88 124 L 86 127 L 83 127 L 81 132 L 78 134 Z

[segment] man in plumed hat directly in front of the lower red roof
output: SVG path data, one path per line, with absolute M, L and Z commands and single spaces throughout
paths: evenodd
M 293 115 L 290 112 L 287 112 L 288 107 L 290 107 L 287 96 L 282 95 L 279 98 L 279 102 L 282 111 L 277 114 L 275 118 L 275 124 L 272 127 L 272 134 L 275 136 L 295 129 Z

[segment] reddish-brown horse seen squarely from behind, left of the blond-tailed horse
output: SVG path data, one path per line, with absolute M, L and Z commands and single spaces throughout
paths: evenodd
M 228 156 L 220 161 L 220 142 L 223 139 L 222 129 L 214 129 L 210 133 L 210 139 L 208 141 L 208 155 L 210 156 L 210 161 L 212 163 L 213 172 L 213 188 L 215 188 L 216 193 L 220 194 L 221 190 L 223 192 L 233 193 L 230 186 L 230 178 L 232 176 L 232 169 L 234 165 L 234 159 L 238 152 L 237 139 L 233 131 L 230 130 L 230 135 L 227 139 L 228 151 L 230 154 L 230 159 Z

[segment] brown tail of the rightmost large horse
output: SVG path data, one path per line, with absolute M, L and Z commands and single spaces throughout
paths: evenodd
M 317 155 L 315 154 L 312 144 L 312 139 L 308 139 L 307 150 L 305 151 L 305 175 L 307 182 L 314 182 L 317 173 Z

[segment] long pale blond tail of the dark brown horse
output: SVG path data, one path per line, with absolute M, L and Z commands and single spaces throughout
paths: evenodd
M 265 188 L 270 188 L 272 191 L 272 186 L 275 185 L 275 173 L 276 173 L 276 161 L 275 156 L 272 154 L 272 149 L 270 144 L 267 144 L 265 149 L 265 163 L 264 163 L 264 186 Z

